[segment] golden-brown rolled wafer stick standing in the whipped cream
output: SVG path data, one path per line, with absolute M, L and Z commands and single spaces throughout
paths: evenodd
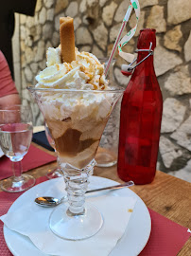
M 76 60 L 73 18 L 60 18 L 61 60 L 71 63 Z

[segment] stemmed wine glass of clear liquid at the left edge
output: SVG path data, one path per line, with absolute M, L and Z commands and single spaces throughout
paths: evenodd
M 22 159 L 32 139 L 30 106 L 11 105 L 0 109 L 0 145 L 12 162 L 13 176 L 1 181 L 5 192 L 23 192 L 35 183 L 34 177 L 22 174 Z

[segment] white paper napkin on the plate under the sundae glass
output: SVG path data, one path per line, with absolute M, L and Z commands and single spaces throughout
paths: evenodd
M 62 180 L 58 179 L 57 182 Z M 61 196 L 62 192 L 58 188 L 61 186 L 54 184 L 48 187 L 48 193 Z M 94 204 L 102 213 L 104 225 L 95 236 L 81 241 L 67 241 L 57 237 L 48 226 L 48 218 L 54 209 L 39 207 L 31 201 L 0 219 L 9 229 L 28 236 L 36 247 L 49 255 L 84 256 L 88 251 L 91 256 L 109 255 L 128 226 L 136 198 L 94 194 L 87 198 L 87 202 Z

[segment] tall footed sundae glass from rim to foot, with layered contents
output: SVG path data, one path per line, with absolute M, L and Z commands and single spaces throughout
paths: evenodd
M 28 89 L 55 141 L 68 197 L 69 207 L 61 204 L 53 210 L 49 227 L 68 240 L 91 237 L 101 229 L 103 218 L 96 207 L 85 203 L 85 192 L 100 137 L 123 90 Z

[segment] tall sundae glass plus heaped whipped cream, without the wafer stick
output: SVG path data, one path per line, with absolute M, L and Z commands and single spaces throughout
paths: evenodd
M 75 60 L 60 63 L 58 47 L 48 48 L 46 56 L 47 67 L 28 89 L 55 141 L 68 197 L 67 204 L 52 211 L 49 226 L 61 238 L 86 239 L 103 224 L 99 210 L 85 203 L 85 192 L 100 137 L 123 89 L 109 87 L 103 65 L 91 53 L 76 48 Z

